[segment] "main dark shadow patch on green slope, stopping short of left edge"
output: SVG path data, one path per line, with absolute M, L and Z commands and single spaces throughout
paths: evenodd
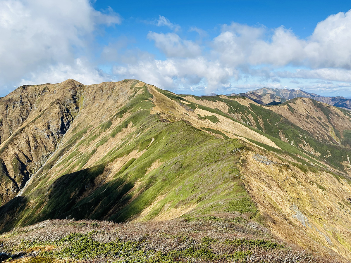
M 107 219 L 112 208 L 128 202 L 130 197 L 124 195 L 134 184 L 121 178 L 105 183 L 104 169 L 100 164 L 59 177 L 49 188 L 44 207 L 25 224 L 56 218 Z

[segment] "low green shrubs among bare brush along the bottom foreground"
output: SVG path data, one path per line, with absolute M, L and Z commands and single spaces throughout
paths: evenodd
M 150 247 L 149 242 L 153 242 L 155 237 L 145 235 L 139 241 L 112 241 L 99 242 L 95 241 L 93 236 L 96 231 L 91 231 L 86 234 L 72 233 L 62 238 L 61 240 L 51 242 L 29 242 L 22 241 L 28 250 L 31 247 L 38 247 L 42 245 L 52 244 L 59 246 L 59 249 L 51 251 L 41 251 L 39 255 L 29 259 L 29 262 L 54 262 L 55 258 L 71 258 L 77 260 L 102 259 L 105 258 L 108 262 L 130 262 L 130 263 L 181 263 L 181 262 L 247 262 L 247 257 L 254 252 L 252 249 L 259 248 L 269 253 L 273 250 L 278 250 L 281 253 L 285 247 L 282 244 L 274 243 L 266 240 L 247 240 L 236 239 L 219 242 L 218 240 L 205 236 L 201 241 L 192 241 L 188 245 L 189 237 L 174 236 L 168 239 L 174 239 L 177 246 L 184 244 L 185 249 L 172 249 L 169 251 L 159 249 L 147 249 Z M 212 248 L 213 244 L 224 248 L 221 252 Z M 184 246 L 183 245 L 183 246 Z M 277 252 L 278 252 L 277 251 Z

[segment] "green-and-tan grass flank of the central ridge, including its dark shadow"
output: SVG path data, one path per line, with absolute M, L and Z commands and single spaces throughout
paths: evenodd
M 11 209 L 12 215 L 18 213 L 15 220 L 2 221 L 4 230 L 53 218 L 123 222 L 171 219 L 188 211 L 257 215 L 240 180 L 244 145 L 184 121 L 164 122 L 150 114 L 152 95 L 146 87 L 135 88 L 136 93 L 109 120 L 73 128 Z M 99 149 L 115 139 L 115 146 L 101 154 Z

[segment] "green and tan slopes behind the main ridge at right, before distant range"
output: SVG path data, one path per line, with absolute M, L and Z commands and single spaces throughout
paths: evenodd
M 263 106 L 243 97 L 223 95 L 207 100 L 198 100 L 190 96 L 185 98 L 201 106 L 211 106 L 209 102 L 211 100 L 212 107 L 215 107 L 215 104 L 222 107 L 218 115 L 256 128 L 258 133 L 263 132 L 265 137 L 269 138 L 278 148 L 295 155 L 298 154 L 313 165 L 325 167 L 325 164 L 329 163 L 332 164 L 333 171 L 337 172 L 341 169 L 343 173 L 351 175 L 347 159 L 348 156 L 351 156 L 350 145 L 347 143 L 351 114 L 345 110 L 313 102 L 307 98 L 294 99 L 278 106 Z M 300 104 L 305 103 L 304 101 L 309 102 L 309 106 L 306 107 L 309 107 L 311 112 L 313 111 L 310 112 L 310 120 L 308 111 L 300 107 Z M 214 111 L 212 110 L 212 112 Z M 253 138 L 248 137 L 248 139 L 252 140 Z M 282 141 L 294 147 L 290 147 Z M 263 143 L 268 144 L 267 142 Z M 270 146 L 273 145 L 270 144 Z

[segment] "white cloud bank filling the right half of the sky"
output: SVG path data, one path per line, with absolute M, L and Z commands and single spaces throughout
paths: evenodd
M 160 17 L 159 21 L 160 25 L 172 28 L 168 19 Z M 287 87 L 283 83 L 299 84 L 300 79 L 347 83 L 351 81 L 350 28 L 351 10 L 328 16 L 306 39 L 284 26 L 269 29 L 235 22 L 223 25 L 217 36 L 202 45 L 176 33 L 149 32 L 148 38 L 154 40 L 166 59 L 143 61 L 148 66 L 135 71 L 132 69 L 138 68 L 137 65 L 128 64 L 124 68 L 126 74 L 133 71 L 168 88 L 192 86 L 199 80 L 197 85 L 211 90 L 225 89 L 235 86 L 238 79 L 253 81 L 254 77 L 260 77 L 264 86 L 274 88 Z M 172 70 L 164 72 L 161 68 Z

